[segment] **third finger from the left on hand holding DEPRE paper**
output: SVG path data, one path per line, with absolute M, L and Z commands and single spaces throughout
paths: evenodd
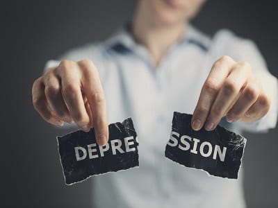
M 88 132 L 90 130 L 90 118 L 85 110 L 81 94 L 81 75 L 78 65 L 72 61 L 63 61 L 59 65 L 58 73 L 62 84 L 62 95 L 72 119 L 79 125 L 79 128 Z

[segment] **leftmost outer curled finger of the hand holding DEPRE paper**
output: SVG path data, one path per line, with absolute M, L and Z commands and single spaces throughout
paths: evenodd
M 63 121 L 60 121 L 56 114 L 50 109 L 47 98 L 44 94 L 44 85 L 42 83 L 42 78 L 35 80 L 32 87 L 33 105 L 35 110 L 42 116 L 44 121 L 51 123 L 53 125 L 63 125 Z

